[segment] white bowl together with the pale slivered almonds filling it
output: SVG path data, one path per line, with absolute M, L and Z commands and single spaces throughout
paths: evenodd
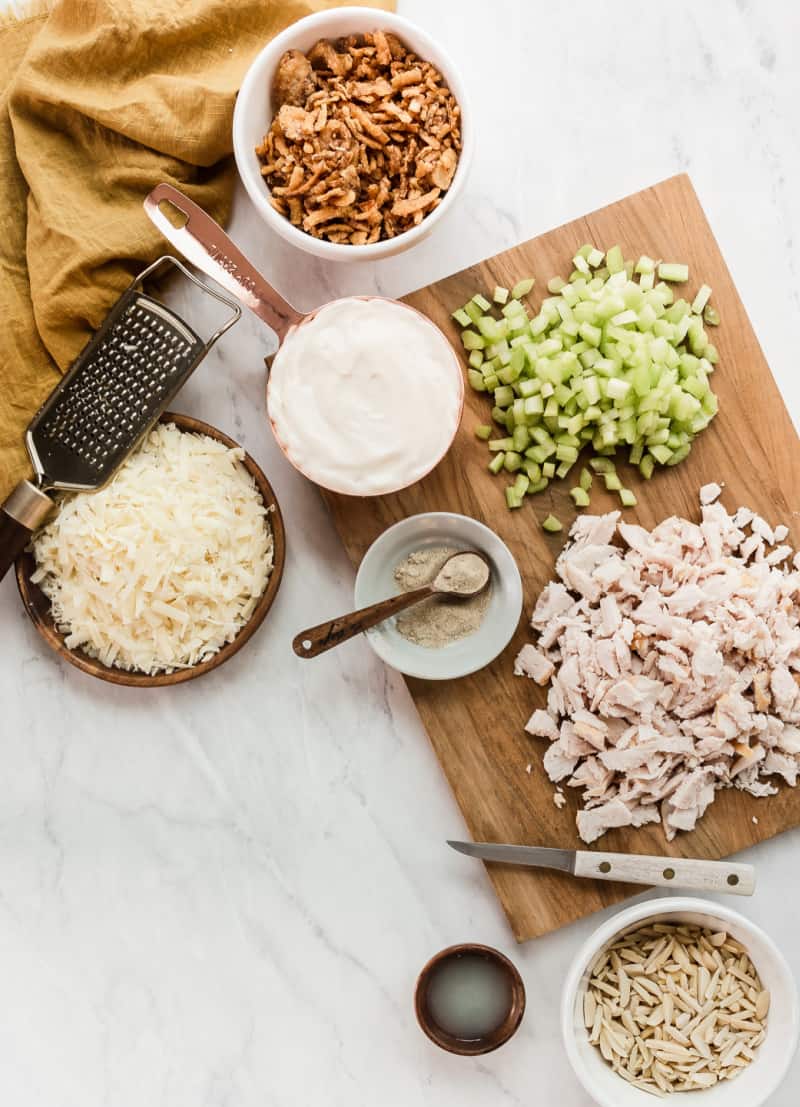
M 575 958 L 561 1026 L 601 1107 L 759 1107 L 786 1076 L 800 1014 L 791 970 L 755 923 L 710 900 L 637 903 Z

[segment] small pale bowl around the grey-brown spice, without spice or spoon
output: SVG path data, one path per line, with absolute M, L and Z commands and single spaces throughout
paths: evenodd
M 407 676 L 444 681 L 482 669 L 508 645 L 522 612 L 522 581 L 506 544 L 482 523 L 450 511 L 430 511 L 402 519 L 372 544 L 355 578 L 356 608 L 396 594 L 395 567 L 414 550 L 432 546 L 475 549 L 487 557 L 491 597 L 479 629 L 438 650 L 403 638 L 394 619 L 367 631 L 366 637 L 375 653 L 393 669 Z

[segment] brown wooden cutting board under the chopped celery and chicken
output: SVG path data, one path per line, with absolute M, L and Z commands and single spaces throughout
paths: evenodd
M 534 276 L 538 294 L 531 299 L 538 309 L 547 296 L 548 279 L 555 273 L 569 276 L 573 254 L 590 241 L 601 249 L 619 242 L 628 258 L 647 254 L 688 262 L 688 291 L 694 296 L 700 283 L 710 284 L 721 315 L 721 325 L 709 328 L 720 355 L 713 377 L 720 413 L 684 464 L 657 472 L 650 483 L 642 482 L 630 466 L 620 465 L 623 483 L 638 497 L 638 506 L 627 510 L 625 518 L 645 527 L 668 515 L 697 518 L 699 486 L 717 480 L 725 483 L 723 500 L 729 508 L 746 504 L 773 524 L 791 525 L 800 489 L 797 435 L 687 176 L 673 177 L 565 224 L 406 300 L 441 328 L 460 355 L 459 331 L 450 320 L 455 308 L 478 290 L 486 292 L 495 284 L 510 288 L 521 277 Z M 678 294 L 685 294 L 685 289 Z M 512 675 L 517 651 L 531 641 L 527 617 L 552 577 L 563 540 L 563 536 L 546 535 L 539 523 L 548 511 L 565 525 L 571 523 L 575 511 L 568 493 L 574 482 L 569 477 L 555 482 L 540 496 L 527 499 L 520 510 L 508 511 L 506 482 L 487 472 L 485 445 L 474 437 L 477 423 L 490 422 L 489 406 L 485 395 L 467 389 L 453 449 L 412 488 L 378 499 L 326 498 L 354 565 L 381 531 L 419 511 L 470 515 L 508 544 L 524 584 L 526 618 L 513 641 L 480 673 L 443 683 L 408 680 L 408 687 L 475 840 L 581 848 L 575 830 L 579 793 L 564 788 L 568 804 L 557 809 L 553 785 L 541 766 L 547 743 L 528 737 L 522 728 L 533 708 L 543 706 L 544 695 L 532 681 Z M 592 510 L 616 507 L 616 496 L 601 492 L 595 480 Z M 760 800 L 729 789 L 718 794 L 694 831 L 672 844 L 665 841 L 661 827 L 650 826 L 612 831 L 598 848 L 719 858 L 798 824 L 800 787 L 781 787 L 778 795 Z M 445 848 L 444 842 L 432 845 Z M 518 941 L 555 930 L 641 890 L 544 870 L 491 865 L 487 869 Z

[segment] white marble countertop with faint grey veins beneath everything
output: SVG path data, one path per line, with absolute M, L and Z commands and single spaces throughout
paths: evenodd
M 401 0 L 471 85 L 477 157 L 457 215 L 409 257 L 325 267 L 243 194 L 232 234 L 302 307 L 402 293 L 687 170 L 800 417 L 800 9 L 791 0 Z M 264 332 L 245 319 L 179 410 L 238 437 L 289 528 L 267 625 L 230 664 L 136 692 L 60 665 L 0 587 L 0 1100 L 14 1107 L 484 1107 L 589 1100 L 561 1048 L 588 919 L 516 948 L 401 679 L 355 642 L 294 632 L 353 573 L 264 423 Z M 765 428 L 766 430 L 766 428 Z M 738 463 L 741 459 L 734 459 Z M 736 907 L 800 968 L 800 834 L 747 857 Z M 528 1013 L 482 1059 L 416 1027 L 416 973 L 477 940 L 519 965 Z M 797 1101 L 800 1061 L 770 1107 Z

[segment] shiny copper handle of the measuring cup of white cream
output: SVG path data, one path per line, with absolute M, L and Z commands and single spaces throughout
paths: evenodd
M 159 207 L 164 201 L 186 216 L 183 227 L 173 226 Z M 302 312 L 276 292 L 219 224 L 173 185 L 166 182 L 156 185 L 145 198 L 144 208 L 167 241 L 241 300 L 276 332 L 279 343 L 291 327 L 303 320 Z

